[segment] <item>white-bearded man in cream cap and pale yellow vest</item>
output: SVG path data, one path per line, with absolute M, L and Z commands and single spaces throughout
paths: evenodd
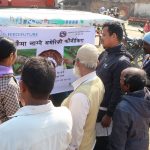
M 69 150 L 92 150 L 96 142 L 95 124 L 104 85 L 96 75 L 98 49 L 92 44 L 79 48 L 74 65 L 78 79 L 72 84 L 74 91 L 63 101 L 73 117 L 72 141 Z

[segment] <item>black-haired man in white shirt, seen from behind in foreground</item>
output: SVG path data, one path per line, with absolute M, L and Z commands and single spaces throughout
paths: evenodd
M 66 150 L 71 141 L 72 117 L 65 107 L 48 100 L 55 71 L 48 60 L 29 59 L 20 80 L 24 105 L 0 125 L 1 150 Z

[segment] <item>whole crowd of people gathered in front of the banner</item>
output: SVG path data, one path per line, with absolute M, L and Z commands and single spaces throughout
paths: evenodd
M 56 72 L 42 57 L 29 58 L 16 81 L 13 41 L 0 37 L 0 149 L 148 150 L 150 32 L 142 68 L 131 64 L 117 22 L 102 26 L 104 52 L 84 44 L 74 61 L 74 91 L 55 107 L 49 99 Z

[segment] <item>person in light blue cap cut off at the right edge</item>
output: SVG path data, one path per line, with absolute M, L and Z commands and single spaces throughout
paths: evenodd
M 147 78 L 148 78 L 147 87 L 150 89 L 150 32 L 144 35 L 143 49 L 144 49 L 144 53 L 146 54 L 143 62 L 143 69 L 147 73 Z

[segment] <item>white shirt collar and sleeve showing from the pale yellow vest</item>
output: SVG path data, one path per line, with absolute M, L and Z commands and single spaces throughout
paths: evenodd
M 74 90 L 81 84 L 94 80 L 96 77 L 96 73 L 92 72 L 79 78 L 72 84 Z M 84 134 L 86 118 L 90 109 L 88 97 L 83 93 L 74 94 L 71 98 L 69 109 L 73 118 L 72 141 L 69 150 L 78 150 Z

